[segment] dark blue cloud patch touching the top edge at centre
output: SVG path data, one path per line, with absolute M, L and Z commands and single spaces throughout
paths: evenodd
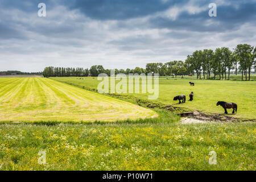
M 95 19 L 130 19 L 164 11 L 175 3 L 183 2 L 185 1 L 85 0 L 75 1 L 75 5 L 71 7 L 80 9 L 82 13 Z

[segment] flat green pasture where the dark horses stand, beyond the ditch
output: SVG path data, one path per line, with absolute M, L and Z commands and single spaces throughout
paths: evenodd
M 85 77 L 84 80 L 76 77 L 52 77 L 52 80 L 97 90 L 100 81 L 94 77 Z M 256 119 L 256 82 L 255 81 L 230 81 L 230 80 L 195 80 L 195 78 L 159 78 L 159 98 L 152 101 L 164 105 L 184 107 L 188 110 L 198 110 L 203 113 L 224 114 L 221 106 L 216 106 L 218 101 L 235 102 L 238 105 L 237 114 L 228 115 L 237 118 Z M 190 86 L 189 81 L 195 82 Z M 118 81 L 116 81 L 117 84 Z M 189 100 L 189 93 L 194 92 L 194 100 Z M 175 96 L 184 94 L 187 97 L 185 104 L 173 101 Z M 128 94 L 121 94 L 128 96 Z M 129 94 L 129 97 L 147 100 L 148 94 Z M 126 98 L 126 97 L 124 97 Z

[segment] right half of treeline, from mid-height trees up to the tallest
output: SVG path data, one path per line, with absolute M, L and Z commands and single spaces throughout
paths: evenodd
M 167 63 L 149 63 L 146 65 L 147 73 L 159 73 L 164 75 L 194 75 L 197 79 L 228 79 L 230 71 L 234 70 L 236 75 L 238 72 L 245 76 L 245 80 L 250 80 L 252 69 L 256 69 L 255 55 L 256 47 L 249 44 L 239 44 L 234 51 L 230 51 L 227 47 L 217 48 L 215 51 L 204 49 L 203 51 L 195 51 L 192 55 L 188 55 L 183 61 L 169 61 Z

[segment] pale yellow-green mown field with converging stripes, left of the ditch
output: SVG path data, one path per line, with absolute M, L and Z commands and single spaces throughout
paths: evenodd
M 155 111 L 47 78 L 0 78 L 0 122 L 116 121 Z

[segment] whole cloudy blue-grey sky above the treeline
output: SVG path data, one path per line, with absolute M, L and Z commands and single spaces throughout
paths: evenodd
M 0 0 L 0 71 L 145 68 L 200 49 L 256 46 L 255 32 L 256 0 Z

